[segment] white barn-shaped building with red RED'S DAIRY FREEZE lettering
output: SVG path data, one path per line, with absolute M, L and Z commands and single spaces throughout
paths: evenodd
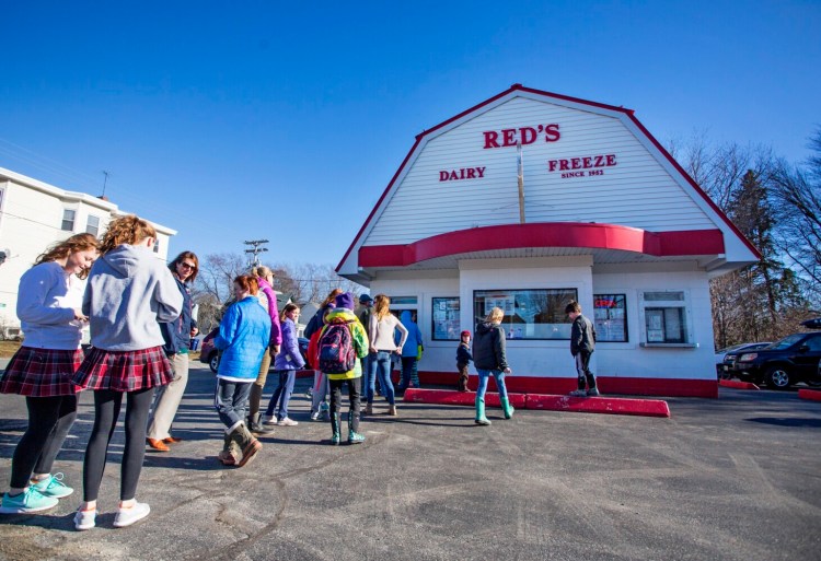
M 516 84 L 416 137 L 337 272 L 417 314 L 423 382 L 499 306 L 508 387 L 574 389 L 578 300 L 604 393 L 713 397 L 708 280 L 759 258 L 633 110 Z

